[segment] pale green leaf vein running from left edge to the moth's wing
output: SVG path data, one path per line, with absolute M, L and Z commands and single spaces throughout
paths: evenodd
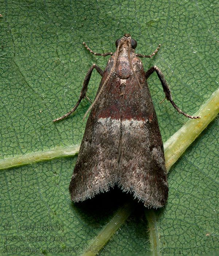
M 18 155 L 12 158 L 5 158 L 0 160 L 0 170 L 7 169 L 20 165 L 27 165 L 39 161 L 50 160 L 56 157 L 73 156 L 78 153 L 80 145 L 69 147 L 57 147 L 51 150 L 39 151 L 27 155 Z

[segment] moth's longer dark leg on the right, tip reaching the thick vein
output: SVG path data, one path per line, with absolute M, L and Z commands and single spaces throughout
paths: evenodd
M 164 93 L 165 93 L 165 98 L 166 98 L 168 101 L 170 101 L 170 103 L 174 106 L 174 108 L 175 108 L 180 114 L 183 114 L 183 115 L 186 116 L 186 117 L 189 117 L 189 118 L 192 118 L 192 119 L 200 118 L 200 116 L 190 116 L 190 115 L 184 113 L 181 109 L 179 109 L 179 108 L 177 107 L 177 105 L 174 103 L 174 101 L 173 101 L 173 99 L 172 99 L 172 95 L 171 95 L 171 93 L 170 93 L 169 86 L 168 86 L 168 84 L 167 84 L 167 82 L 166 82 L 166 80 L 165 80 L 165 78 L 164 78 L 164 75 L 162 74 L 162 72 L 160 71 L 160 69 L 159 69 L 158 67 L 154 66 L 154 67 L 149 68 L 148 71 L 145 72 L 145 78 L 146 78 L 146 79 L 149 78 L 149 76 L 150 76 L 154 71 L 156 71 L 157 76 L 158 76 L 158 78 L 159 78 L 160 81 L 161 81 L 161 84 L 162 84 L 162 86 L 163 86 Z M 165 98 L 164 98 L 164 99 L 165 99 Z M 163 102 L 164 99 L 163 99 L 161 102 Z

